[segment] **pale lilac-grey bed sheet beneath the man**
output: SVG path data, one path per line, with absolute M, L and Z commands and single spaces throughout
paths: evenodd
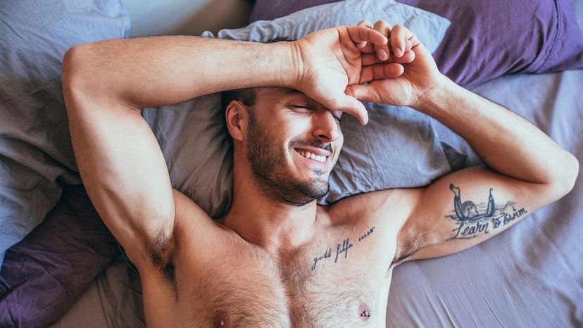
M 475 92 L 541 127 L 583 162 L 583 70 L 514 75 Z M 479 122 L 476 122 L 477 124 Z M 441 141 L 480 162 L 437 123 Z M 503 153 L 500 156 L 504 156 Z M 583 182 L 560 201 L 462 253 L 394 270 L 387 327 L 582 327 Z M 118 260 L 52 327 L 145 327 L 139 276 Z

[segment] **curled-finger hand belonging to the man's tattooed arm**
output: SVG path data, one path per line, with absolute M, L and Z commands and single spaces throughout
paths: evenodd
M 382 20 L 375 25 L 363 20 L 358 26 L 376 30 L 389 37 L 390 42 L 358 45 L 364 53 L 363 78 L 359 84 L 349 85 L 346 94 L 361 101 L 417 108 L 423 95 L 444 80 L 431 53 L 410 30 L 401 25 L 391 28 Z M 387 77 L 387 70 L 402 74 Z

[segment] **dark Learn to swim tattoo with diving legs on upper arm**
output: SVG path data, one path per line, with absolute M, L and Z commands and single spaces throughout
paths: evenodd
M 453 239 L 472 239 L 479 234 L 489 234 L 494 229 L 499 229 L 510 224 L 522 215 L 528 213 L 525 208 L 517 210 L 516 203 L 508 201 L 505 204 L 496 205 L 494 201 L 494 189 L 490 188 L 487 203 L 475 204 L 472 201 L 462 203 L 460 188 L 449 185 L 453 191 L 453 213 L 446 215 L 456 222 L 456 227 L 451 230 L 454 235 L 446 241 Z

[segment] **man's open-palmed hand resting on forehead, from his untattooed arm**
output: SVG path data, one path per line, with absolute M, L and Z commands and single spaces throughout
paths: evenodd
M 339 26 L 292 42 L 292 51 L 298 59 L 297 77 L 291 87 L 330 110 L 344 111 L 366 124 L 368 113 L 364 105 L 345 93 L 350 85 L 363 83 L 363 77 L 368 74 L 363 70 L 365 53 L 358 47 L 363 42 L 383 46 L 388 39 L 368 27 Z M 385 69 L 375 75 L 377 78 L 396 77 L 403 71 L 396 64 L 382 65 Z M 375 64 L 368 66 L 372 68 Z

